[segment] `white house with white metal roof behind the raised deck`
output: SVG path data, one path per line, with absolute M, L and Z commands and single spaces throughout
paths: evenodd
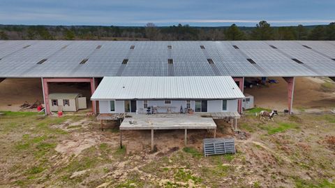
M 91 96 L 101 114 L 237 112 L 243 98 L 230 76 L 104 77 Z

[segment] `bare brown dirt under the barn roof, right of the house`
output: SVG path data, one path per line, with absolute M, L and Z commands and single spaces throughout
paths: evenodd
M 262 108 L 288 109 L 287 83 L 283 78 L 269 87 L 245 88 L 244 93 L 255 96 L 255 105 Z M 334 82 L 329 78 L 297 77 L 293 111 L 306 108 L 335 108 Z

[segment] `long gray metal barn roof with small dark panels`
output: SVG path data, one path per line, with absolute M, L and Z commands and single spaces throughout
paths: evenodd
M 2 78 L 335 76 L 334 41 L 0 42 Z M 97 48 L 99 45 L 101 48 Z M 131 45 L 135 49 L 130 49 Z M 42 59 L 47 60 L 37 64 Z M 80 64 L 83 59 L 88 60 Z M 124 59 L 128 59 L 127 64 L 121 64 Z M 168 59 L 173 59 L 173 64 L 169 65 Z M 212 59 L 214 64 L 209 64 L 207 59 Z M 253 59 L 255 64 L 247 59 Z

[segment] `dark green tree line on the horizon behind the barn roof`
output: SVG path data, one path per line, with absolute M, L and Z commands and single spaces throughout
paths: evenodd
M 178 24 L 156 27 L 24 26 L 0 25 L 1 40 L 150 40 L 150 41 L 244 41 L 335 40 L 335 22 L 327 25 L 271 27 L 261 21 L 255 27 L 190 27 Z

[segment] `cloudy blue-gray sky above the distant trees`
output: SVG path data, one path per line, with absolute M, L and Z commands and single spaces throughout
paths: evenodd
M 0 24 L 218 27 L 329 24 L 335 0 L 0 0 Z

